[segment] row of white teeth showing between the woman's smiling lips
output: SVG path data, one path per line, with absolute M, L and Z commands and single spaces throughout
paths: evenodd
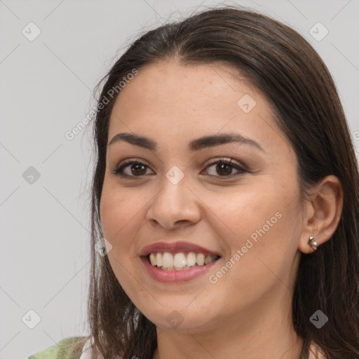
M 152 266 L 163 271 L 183 271 L 194 266 L 205 266 L 220 258 L 219 255 L 204 255 L 196 252 L 151 252 L 146 257 Z

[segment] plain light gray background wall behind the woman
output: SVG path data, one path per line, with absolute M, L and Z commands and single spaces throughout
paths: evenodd
M 90 132 L 73 140 L 65 133 L 88 114 L 95 84 L 137 34 L 215 4 L 0 0 L 1 359 L 87 334 Z M 236 4 L 278 18 L 313 44 L 334 76 L 358 149 L 359 1 Z M 22 34 L 36 34 L 29 22 L 41 30 L 33 41 Z M 321 41 L 309 33 L 317 22 L 329 31 Z M 30 166 L 38 179 L 27 177 Z M 41 318 L 33 329 L 30 309 Z

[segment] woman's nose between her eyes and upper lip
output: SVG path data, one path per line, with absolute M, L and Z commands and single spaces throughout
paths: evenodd
M 190 188 L 186 176 L 177 184 L 164 176 L 161 184 L 161 189 L 152 198 L 151 207 L 147 211 L 147 220 L 152 226 L 176 229 L 201 220 L 201 201 Z

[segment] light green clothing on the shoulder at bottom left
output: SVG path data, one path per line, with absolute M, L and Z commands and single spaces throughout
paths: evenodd
M 89 337 L 69 337 L 27 359 L 79 359 Z

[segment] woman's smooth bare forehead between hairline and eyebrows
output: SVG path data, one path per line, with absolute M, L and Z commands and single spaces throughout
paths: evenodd
M 151 133 L 158 143 L 174 146 L 199 134 L 239 131 L 266 142 L 269 130 L 273 131 L 266 98 L 231 67 L 173 61 L 138 71 L 116 99 L 109 140 L 118 132 Z

